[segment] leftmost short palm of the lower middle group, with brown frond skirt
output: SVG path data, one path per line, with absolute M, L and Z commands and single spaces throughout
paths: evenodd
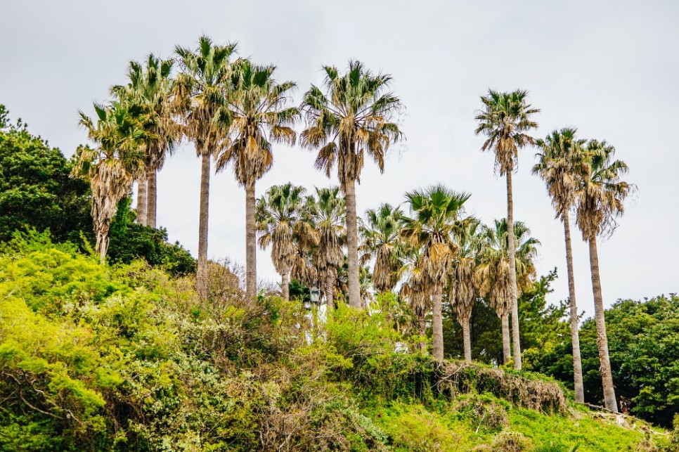
M 290 269 L 297 257 L 295 229 L 301 221 L 305 192 L 302 186 L 286 183 L 272 186 L 257 200 L 259 247 L 264 250 L 272 245 L 271 260 L 280 275 L 280 289 L 286 302 L 290 299 Z

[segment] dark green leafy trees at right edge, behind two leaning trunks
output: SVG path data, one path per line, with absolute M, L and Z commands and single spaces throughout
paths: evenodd
M 619 300 L 606 310 L 606 328 L 616 394 L 630 400 L 630 413 L 669 427 L 679 411 L 679 297 Z M 585 399 L 600 403 L 595 322 L 580 330 Z M 571 344 L 564 337 L 545 350 L 534 368 L 572 384 Z

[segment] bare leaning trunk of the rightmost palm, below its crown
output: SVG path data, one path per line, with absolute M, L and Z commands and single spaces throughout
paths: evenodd
M 592 271 L 592 291 L 594 292 L 594 318 L 597 325 L 597 347 L 599 347 L 599 371 L 604 388 L 604 406 L 611 411 L 618 412 L 613 387 L 611 359 L 608 354 L 608 337 L 606 335 L 606 321 L 604 319 L 604 299 L 601 295 L 601 278 L 599 276 L 599 254 L 597 252 L 597 238 L 593 236 L 590 242 L 590 269 Z

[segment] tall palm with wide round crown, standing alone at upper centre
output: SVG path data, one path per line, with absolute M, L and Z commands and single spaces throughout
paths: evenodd
M 330 177 L 337 164 L 337 176 L 347 205 L 347 254 L 349 257 L 349 304 L 361 306 L 358 280 L 358 225 L 356 220 L 356 182 L 361 183 L 366 153 L 384 172 L 384 155 L 401 138 L 394 115 L 401 101 L 387 91 L 392 77 L 373 74 L 356 60 L 349 61 L 346 73 L 324 66 L 323 91 L 311 85 L 304 94 L 302 109 L 307 128 L 302 145 L 318 148 L 316 169 Z

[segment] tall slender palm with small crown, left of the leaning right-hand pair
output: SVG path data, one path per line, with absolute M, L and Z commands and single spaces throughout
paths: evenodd
M 495 153 L 496 171 L 500 176 L 507 177 L 507 224 L 510 231 L 514 224 L 514 198 L 512 195 L 512 173 L 519 157 L 519 149 L 533 144 L 535 140 L 526 134 L 538 124 L 531 120 L 531 116 L 539 112 L 526 103 L 528 91 L 517 90 L 511 93 L 500 93 L 489 89 L 487 96 L 481 96 L 484 110 L 481 110 L 476 120 L 479 122 L 474 131 L 477 135 L 484 134 L 488 138 L 481 150 L 493 150 Z M 512 311 L 512 342 L 514 342 L 514 366 L 521 369 L 521 344 L 519 340 L 519 306 L 517 303 L 516 286 L 517 271 L 515 268 L 516 252 L 514 238 L 509 235 L 510 261 L 510 303 Z

